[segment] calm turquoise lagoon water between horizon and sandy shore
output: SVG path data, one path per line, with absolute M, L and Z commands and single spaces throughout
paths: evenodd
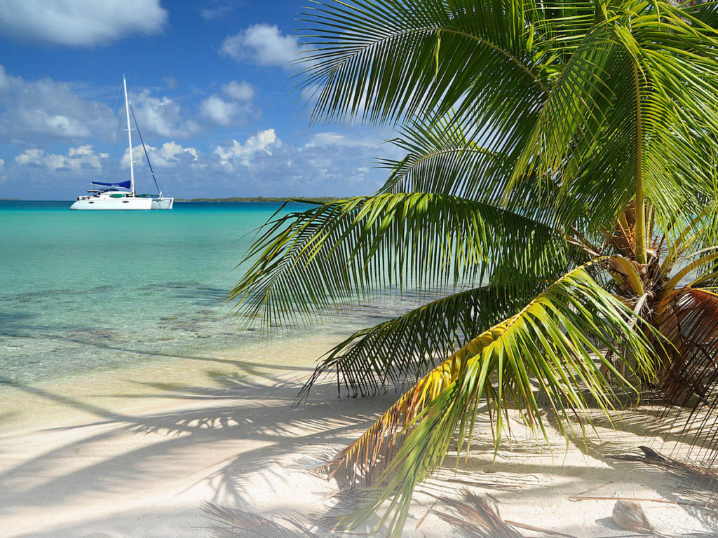
M 0 381 L 249 345 L 225 296 L 251 232 L 279 205 L 72 212 L 70 202 L 0 202 Z

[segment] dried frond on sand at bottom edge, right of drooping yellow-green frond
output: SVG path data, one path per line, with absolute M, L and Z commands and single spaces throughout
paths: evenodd
M 450 513 L 434 509 L 434 514 L 467 537 L 523 538 L 523 534 L 501 519 L 498 506 L 490 506 L 486 499 L 467 489 L 462 489 L 462 496 L 464 501 L 442 497 Z

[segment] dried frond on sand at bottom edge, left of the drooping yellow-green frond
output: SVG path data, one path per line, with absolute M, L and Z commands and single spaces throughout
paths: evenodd
M 291 516 L 281 519 L 292 525 L 292 529 L 271 519 L 218 504 L 205 503 L 202 509 L 214 523 L 211 529 L 215 538 L 319 538 Z

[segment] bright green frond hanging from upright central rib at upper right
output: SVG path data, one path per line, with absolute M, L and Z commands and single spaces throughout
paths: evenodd
M 635 8 L 611 6 L 559 64 L 514 171 L 560 174 L 561 221 L 582 230 L 610 228 L 639 188 L 663 230 L 715 192 L 716 32 L 670 4 Z

